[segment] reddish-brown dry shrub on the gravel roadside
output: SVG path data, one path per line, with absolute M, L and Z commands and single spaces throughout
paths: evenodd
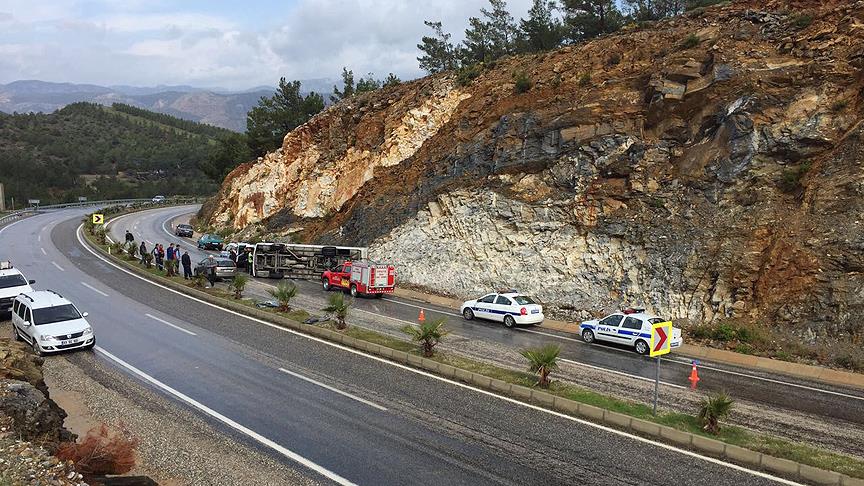
M 60 444 L 55 454 L 58 459 L 72 461 L 84 476 L 125 474 L 135 467 L 138 439 L 122 424 L 117 429 L 102 424 L 87 432 L 79 442 Z

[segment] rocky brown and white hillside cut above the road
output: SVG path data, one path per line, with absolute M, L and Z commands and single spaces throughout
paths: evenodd
M 455 296 L 861 337 L 862 68 L 864 1 L 733 2 L 330 107 L 202 216 Z

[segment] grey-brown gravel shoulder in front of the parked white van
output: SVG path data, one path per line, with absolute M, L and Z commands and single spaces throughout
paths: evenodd
M 92 353 L 51 357 L 43 370 L 52 393 L 82 397 L 86 421 L 122 423 L 140 440 L 138 465 L 130 474 L 147 475 L 163 485 L 319 484 L 305 471 L 235 440 L 104 365 Z

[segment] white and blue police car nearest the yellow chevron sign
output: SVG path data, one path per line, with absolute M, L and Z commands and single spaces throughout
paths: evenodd
M 630 308 L 608 315 L 603 319 L 585 321 L 579 325 L 582 339 L 586 343 L 607 341 L 632 346 L 639 354 L 648 354 L 648 343 L 651 342 L 651 325 L 666 322 L 666 319 L 646 314 L 645 309 Z M 681 329 L 672 328 L 672 348 L 681 346 Z

